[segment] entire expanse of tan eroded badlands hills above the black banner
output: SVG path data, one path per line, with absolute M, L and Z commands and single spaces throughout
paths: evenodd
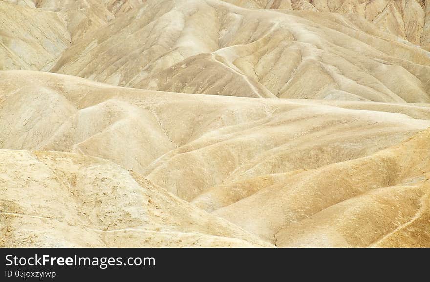
M 430 247 L 429 17 L 1 0 L 0 247 Z

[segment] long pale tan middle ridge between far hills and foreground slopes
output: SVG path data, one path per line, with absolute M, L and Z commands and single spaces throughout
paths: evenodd
M 430 126 L 430 108 L 418 104 L 338 107 L 118 88 L 42 72 L 0 76 L 2 148 L 106 158 L 186 200 L 227 182 L 363 157 Z

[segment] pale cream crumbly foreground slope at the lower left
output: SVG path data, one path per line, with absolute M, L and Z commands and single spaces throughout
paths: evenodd
M 0 150 L 0 168 L 1 247 L 271 246 L 107 160 Z

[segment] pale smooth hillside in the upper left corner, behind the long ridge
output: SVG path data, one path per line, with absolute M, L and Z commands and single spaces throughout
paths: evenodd
M 0 2 L 0 70 L 42 70 L 70 46 L 58 14 Z

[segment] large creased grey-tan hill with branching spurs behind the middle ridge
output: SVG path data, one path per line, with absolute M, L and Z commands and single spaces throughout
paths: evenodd
M 51 70 L 183 93 L 428 102 L 429 54 L 357 15 L 150 0 Z

